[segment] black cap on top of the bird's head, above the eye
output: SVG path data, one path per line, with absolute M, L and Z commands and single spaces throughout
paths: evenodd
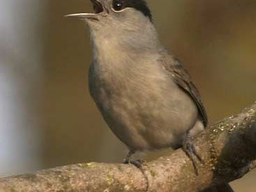
M 146 17 L 149 17 L 149 19 L 152 21 L 151 11 L 147 6 L 146 1 L 144 0 L 113 0 L 113 3 L 115 2 L 121 2 L 123 4 L 123 8 L 135 8 L 136 10 L 139 10 Z

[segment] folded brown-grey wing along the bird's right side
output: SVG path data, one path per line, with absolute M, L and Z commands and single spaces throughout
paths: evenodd
M 197 90 L 195 84 L 191 81 L 190 75 L 185 70 L 183 65 L 172 56 L 165 57 L 163 61 L 163 65 L 165 70 L 171 73 L 174 81 L 190 95 L 190 97 L 194 100 L 195 104 L 197 104 L 197 109 L 202 116 L 202 121 L 204 122 L 204 127 L 208 124 L 208 119 L 206 115 L 206 111 L 204 109 L 204 105 L 202 104 L 201 97 L 199 95 L 199 91 Z

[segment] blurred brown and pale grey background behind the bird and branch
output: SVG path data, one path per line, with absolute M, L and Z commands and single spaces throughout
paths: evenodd
M 211 122 L 256 100 L 256 1 L 148 1 L 160 39 L 197 84 Z M 0 176 L 86 161 L 126 147 L 87 86 L 89 0 L 0 0 Z M 256 171 L 232 182 L 255 192 Z

